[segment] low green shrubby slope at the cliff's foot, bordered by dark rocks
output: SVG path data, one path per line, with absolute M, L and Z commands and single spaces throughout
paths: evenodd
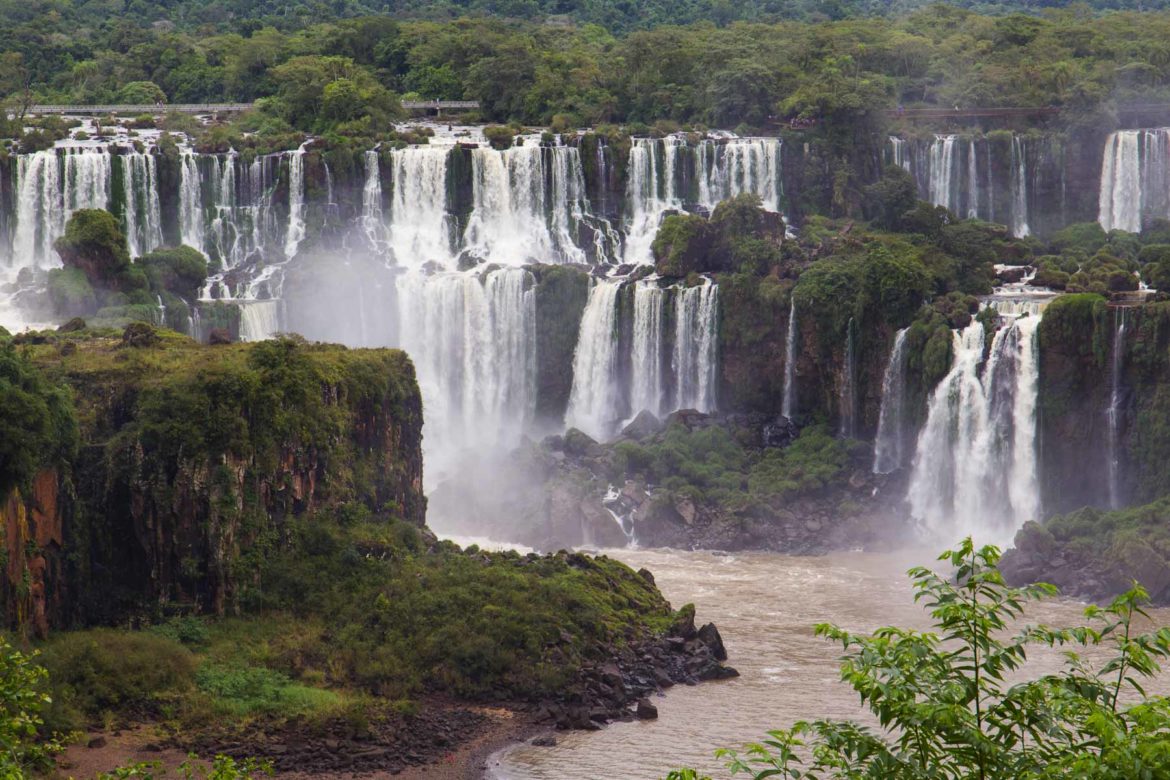
M 345 517 L 298 523 L 256 566 L 264 592 L 242 617 L 56 634 L 42 656 L 49 727 L 154 718 L 190 734 L 434 691 L 550 696 L 581 662 L 674 619 L 648 580 L 606 558 L 462 551 L 410 524 Z

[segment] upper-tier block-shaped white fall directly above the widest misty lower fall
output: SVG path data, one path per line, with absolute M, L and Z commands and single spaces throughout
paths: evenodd
M 421 268 L 448 267 L 454 230 L 447 214 L 447 158 L 442 146 L 407 146 L 391 154 L 393 193 L 390 206 L 390 248 L 394 263 Z

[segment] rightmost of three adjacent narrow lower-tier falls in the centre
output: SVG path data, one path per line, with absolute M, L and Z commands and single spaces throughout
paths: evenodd
M 675 408 L 714 412 L 718 387 L 718 285 L 704 279 L 675 294 Z

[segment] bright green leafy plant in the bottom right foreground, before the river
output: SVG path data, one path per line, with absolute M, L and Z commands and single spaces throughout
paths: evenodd
M 1051 585 L 1013 588 L 999 551 L 966 539 L 940 560 L 954 578 L 910 570 L 915 601 L 934 631 L 882 628 L 872 636 L 828 623 L 815 634 L 840 642 L 841 679 L 881 730 L 851 722 L 801 720 L 744 753 L 718 751 L 732 774 L 753 778 L 1020 780 L 1170 776 L 1170 699 L 1148 696 L 1142 681 L 1170 655 L 1170 628 L 1136 633 L 1148 619 L 1138 585 L 1108 607 L 1088 607 L 1090 624 L 1011 633 L 1028 601 Z M 1067 647 L 1065 669 L 1011 682 L 1030 647 Z M 1095 665 L 1081 655 L 1112 649 Z M 698 780 L 691 769 L 668 780 Z

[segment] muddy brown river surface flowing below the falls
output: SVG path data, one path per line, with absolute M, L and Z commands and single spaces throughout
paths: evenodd
M 801 718 L 867 720 L 852 689 L 839 682 L 840 647 L 813 636 L 818 622 L 854 631 L 881 626 L 927 628 L 906 571 L 934 564 L 935 552 L 838 553 L 796 558 L 773 553 L 613 550 L 606 554 L 649 568 L 677 607 L 694 602 L 697 621 L 715 621 L 730 681 L 677 685 L 654 703 L 658 720 L 618 723 L 596 732 L 559 732 L 555 747 L 518 745 L 489 761 L 497 780 L 645 780 L 677 766 L 725 778 L 718 747 L 739 747 L 770 729 Z M 1082 622 L 1083 605 L 1047 601 L 1028 612 L 1030 623 Z M 1159 624 L 1170 609 L 1154 610 Z M 1054 653 L 1031 654 L 1030 675 L 1054 671 Z M 1154 690 L 1165 689 L 1157 681 Z M 1148 688 L 1150 690 L 1150 688 Z M 1152 691 L 1151 691 L 1152 692 Z

